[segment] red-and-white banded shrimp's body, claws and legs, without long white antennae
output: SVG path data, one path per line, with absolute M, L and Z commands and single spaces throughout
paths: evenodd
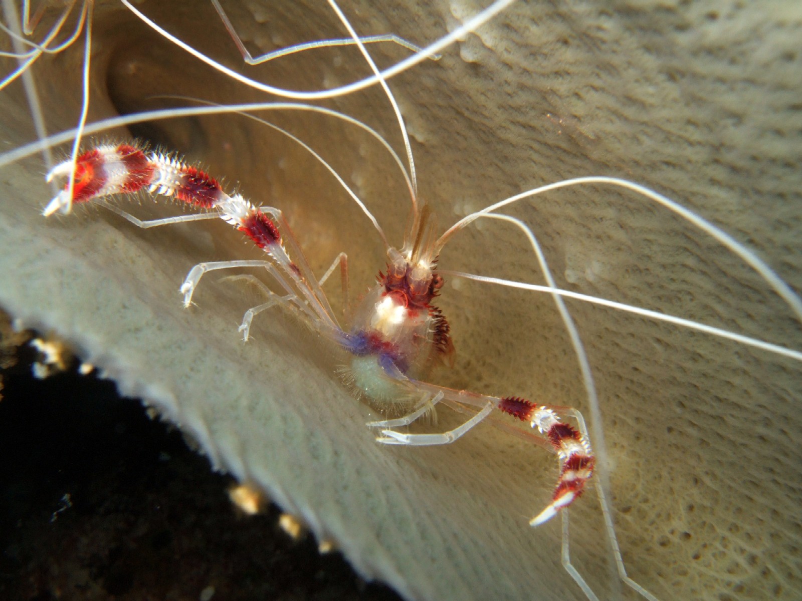
M 448 321 L 433 304 L 444 280 L 436 272 L 441 240 L 435 236 L 428 208 L 413 212 L 411 228 L 401 251 L 387 250 L 387 272 L 379 272 L 379 285 L 369 292 L 359 306 L 354 325 L 343 330 L 332 311 L 322 280 L 312 274 L 306 257 L 277 208 L 253 206 L 240 194 L 227 194 L 221 184 L 205 171 L 160 152 L 148 152 L 136 143 L 101 145 L 81 154 L 75 161 L 54 167 L 47 179 L 66 177 L 67 184 L 43 211 L 45 216 L 68 212 L 74 203 L 100 201 L 107 196 L 147 190 L 159 196 L 172 196 L 189 207 L 209 211 L 201 217 L 219 217 L 233 225 L 267 254 L 268 260 L 233 260 L 201 263 L 193 267 L 181 285 L 184 306 L 192 303 L 192 294 L 206 272 L 218 269 L 265 268 L 278 284 L 281 294 L 267 288 L 268 303 L 245 313 L 241 331 L 248 337 L 250 322 L 257 313 L 272 305 L 286 305 L 297 310 L 321 337 L 337 342 L 351 353 L 346 382 L 377 405 L 403 404 L 415 397 L 422 407 L 399 420 L 371 422 L 368 426 L 407 425 L 439 401 L 480 409 L 467 422 L 441 434 L 399 434 L 382 430 L 377 438 L 383 444 L 440 445 L 456 441 L 492 413 L 494 409 L 524 422 L 548 439 L 563 463 L 552 502 L 531 523 L 541 524 L 579 498 L 585 482 L 593 474 L 595 459 L 586 435 L 560 421 L 557 408 L 536 405 L 520 397 L 495 397 L 467 390 L 449 389 L 426 381 L 432 365 L 450 357 L 453 345 Z M 140 227 L 195 220 L 187 216 L 146 224 L 115 209 Z M 283 234 L 282 234 L 283 232 Z M 423 409 L 423 410 L 422 410 Z M 581 418 L 580 418 L 581 419 Z

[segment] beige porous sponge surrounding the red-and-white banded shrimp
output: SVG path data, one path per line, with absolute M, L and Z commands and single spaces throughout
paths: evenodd
M 346 12 L 361 34 L 392 31 L 425 43 L 479 8 L 366 3 Z M 200 25 L 214 22 L 209 6 L 175 9 L 154 8 L 164 10 L 154 17 L 238 64 L 225 30 Z M 343 35 L 325 7 L 294 2 L 249 2 L 231 17 L 246 44 L 265 50 Z M 165 91 L 263 99 L 225 79 L 210 85 L 205 67 L 148 37 L 124 10 L 100 5 L 97 18 L 97 116 L 143 110 L 145 97 Z M 439 61 L 391 80 L 420 194 L 443 229 L 557 179 L 632 179 L 731 232 L 799 289 L 800 30 L 797 2 L 515 4 Z M 392 45 L 371 50 L 383 65 L 405 55 Z M 370 73 L 355 50 L 320 52 L 249 75 L 311 89 Z M 53 74 L 78 61 L 62 55 L 39 66 L 48 118 L 62 127 L 77 114 L 78 87 Z M 29 139 L 21 95 L 10 90 L 7 99 L 16 116 L 2 120 L 4 135 Z M 330 104 L 401 147 L 378 89 Z M 320 115 L 269 118 L 326 155 L 400 244 L 403 179 L 370 138 Z M 383 268 L 380 240 L 362 214 L 281 136 L 237 118 L 141 133 L 239 182 L 254 202 L 285 210 L 318 272 L 348 252 L 358 293 Z M 527 526 L 556 480 L 552 455 L 489 427 L 448 447 L 377 446 L 363 426 L 376 416 L 336 376 L 346 361 L 338 349 L 280 311 L 260 316 L 255 340 L 241 345 L 236 324 L 261 300 L 213 278 L 201 283 L 198 307 L 181 309 L 177 288 L 193 264 L 258 256 L 235 232 L 223 224 L 142 232 L 92 210 L 45 221 L 37 214 L 50 194 L 42 171 L 38 158 L 3 171 L 0 302 L 11 313 L 59 330 L 124 391 L 196 438 L 216 467 L 257 482 L 336 540 L 363 574 L 410 599 L 582 598 L 560 565 L 557 521 Z M 505 212 L 532 228 L 562 288 L 802 348 L 800 324 L 751 268 L 648 200 L 593 186 Z M 525 238 L 496 221 L 455 236 L 440 265 L 543 281 Z M 589 415 L 549 296 L 448 279 L 440 306 L 457 358 L 433 381 Z M 576 301 L 569 310 L 597 384 L 630 576 L 659 599 L 798 598 L 799 364 Z M 436 427 L 459 421 L 440 417 Z M 611 572 L 594 490 L 572 507 L 571 531 L 573 562 L 599 597 L 636 598 Z

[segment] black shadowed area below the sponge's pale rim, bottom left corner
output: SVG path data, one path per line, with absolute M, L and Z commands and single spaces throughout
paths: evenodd
M 277 507 L 239 514 L 231 478 L 111 381 L 38 380 L 21 351 L 0 401 L 0 599 L 398 599 L 293 542 Z

